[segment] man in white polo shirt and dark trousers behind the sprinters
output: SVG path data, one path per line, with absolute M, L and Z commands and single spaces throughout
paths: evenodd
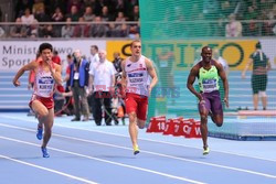
M 97 126 L 102 125 L 102 106 L 104 107 L 105 123 L 112 126 L 112 95 L 115 85 L 115 68 L 106 59 L 106 51 L 98 52 L 99 62 L 93 63 L 89 71 L 89 94 L 94 96 L 94 120 Z

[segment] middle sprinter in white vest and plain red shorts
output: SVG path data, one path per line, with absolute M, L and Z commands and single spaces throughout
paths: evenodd
M 141 55 L 141 41 L 130 45 L 131 56 L 121 63 L 123 87 L 126 89 L 126 111 L 129 117 L 129 134 L 134 154 L 138 154 L 138 128 L 145 128 L 148 111 L 148 97 L 156 86 L 158 77 L 151 61 Z M 151 82 L 150 82 L 151 77 Z

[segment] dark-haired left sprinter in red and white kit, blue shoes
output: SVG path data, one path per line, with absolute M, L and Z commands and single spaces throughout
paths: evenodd
M 46 145 L 52 136 L 54 122 L 53 91 L 55 89 L 55 84 L 62 85 L 62 75 L 61 66 L 52 61 L 53 46 L 49 43 L 42 43 L 39 52 L 41 57 L 22 66 L 13 78 L 13 85 L 15 87 L 20 86 L 19 78 L 25 71 L 34 71 L 34 91 L 29 105 L 39 119 L 36 138 L 41 140 L 43 137 L 41 145 L 42 155 L 43 158 L 49 158 Z

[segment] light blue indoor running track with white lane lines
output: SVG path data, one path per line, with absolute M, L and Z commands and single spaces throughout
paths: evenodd
M 0 113 L 2 184 L 275 184 L 275 141 L 184 139 L 139 130 L 140 153 L 132 154 L 127 126 L 96 127 L 57 117 L 42 158 L 36 119 Z

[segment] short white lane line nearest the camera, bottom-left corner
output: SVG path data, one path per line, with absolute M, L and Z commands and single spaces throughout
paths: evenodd
M 12 158 L 9 158 L 9 156 L 2 155 L 2 154 L 0 154 L 0 158 L 9 160 L 9 161 L 17 162 L 17 163 L 20 163 L 20 164 L 23 164 L 23 165 L 36 167 L 36 169 L 44 170 L 44 171 L 49 171 L 51 173 L 63 175 L 63 176 L 66 176 L 66 177 L 70 177 L 70 178 L 73 178 L 73 180 L 76 180 L 76 181 L 79 181 L 79 182 L 89 183 L 89 184 L 97 184 L 96 182 L 93 182 L 93 181 L 89 181 L 89 180 L 85 180 L 85 178 L 77 177 L 77 176 L 74 176 L 74 175 L 71 175 L 71 174 L 66 174 L 66 173 L 63 173 L 63 172 L 60 172 L 60 171 L 56 171 L 56 170 L 52 170 L 52 169 L 49 169 L 49 167 L 44 167 L 44 166 L 35 165 L 35 164 L 32 164 L 32 163 L 29 163 L 29 162 L 12 159 Z

